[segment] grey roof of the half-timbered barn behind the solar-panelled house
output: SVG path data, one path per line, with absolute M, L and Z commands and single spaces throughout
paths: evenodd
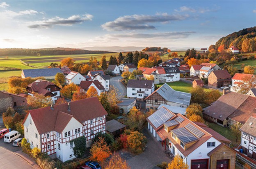
M 191 99 L 190 93 L 176 91 L 166 83 L 162 85 L 159 89 L 157 89 L 155 92 L 160 94 L 160 96 L 162 96 L 165 100 L 169 102 L 175 102 L 175 103 L 178 103 L 181 105 L 187 105 L 187 106 L 190 105 L 190 99 Z

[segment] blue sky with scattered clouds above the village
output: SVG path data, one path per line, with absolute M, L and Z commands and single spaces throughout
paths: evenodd
M 0 48 L 203 48 L 254 26 L 255 0 L 0 0 Z

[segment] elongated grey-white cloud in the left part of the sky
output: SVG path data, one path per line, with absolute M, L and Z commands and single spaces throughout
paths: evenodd
M 90 14 L 85 15 L 73 15 L 69 18 L 60 18 L 56 16 L 55 18 L 50 18 L 48 20 L 39 20 L 39 21 L 33 21 L 29 22 L 29 28 L 31 29 L 39 29 L 39 28 L 51 28 L 56 25 L 61 26 L 72 26 L 73 24 L 80 24 L 82 22 L 85 22 L 87 20 L 92 20 L 93 16 Z

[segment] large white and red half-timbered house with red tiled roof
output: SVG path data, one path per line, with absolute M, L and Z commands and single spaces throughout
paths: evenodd
M 97 133 L 106 132 L 106 116 L 96 97 L 30 110 L 23 120 L 24 138 L 31 148 L 65 162 L 75 158 L 75 138 L 85 136 L 89 147 Z

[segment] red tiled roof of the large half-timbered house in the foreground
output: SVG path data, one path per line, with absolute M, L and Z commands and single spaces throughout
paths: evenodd
M 54 131 L 55 129 L 61 131 L 64 129 L 63 126 L 55 126 L 55 124 L 59 125 L 61 123 L 60 121 L 64 121 L 64 123 L 67 124 L 67 121 L 69 121 L 71 116 L 82 123 L 96 117 L 107 115 L 101 102 L 96 97 L 70 102 L 70 111 L 68 110 L 68 104 L 64 103 L 54 105 L 53 109 L 51 109 L 51 107 L 44 107 L 30 110 L 29 113 L 39 134 Z M 23 122 L 25 122 L 29 113 L 27 113 Z M 59 116 L 59 118 L 57 118 L 57 116 Z

